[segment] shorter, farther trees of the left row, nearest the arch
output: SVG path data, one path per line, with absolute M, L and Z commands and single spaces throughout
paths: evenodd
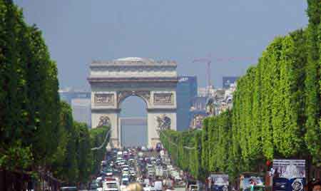
M 106 155 L 106 145 L 100 150 L 91 150 L 105 143 L 109 127 L 88 129 L 86 123 L 73 121 L 68 103 L 61 102 L 59 145 L 49 171 L 65 182 L 86 183 L 100 170 L 101 160 Z M 109 137 L 108 137 L 109 138 Z

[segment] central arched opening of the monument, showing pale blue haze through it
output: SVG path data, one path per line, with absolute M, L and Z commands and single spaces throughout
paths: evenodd
M 123 147 L 146 146 L 148 144 L 147 103 L 141 96 L 130 95 L 119 103 L 121 109 L 121 145 Z

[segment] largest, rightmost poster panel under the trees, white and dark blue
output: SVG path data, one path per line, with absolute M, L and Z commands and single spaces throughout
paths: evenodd
M 273 191 L 302 191 L 305 186 L 305 160 L 273 160 Z

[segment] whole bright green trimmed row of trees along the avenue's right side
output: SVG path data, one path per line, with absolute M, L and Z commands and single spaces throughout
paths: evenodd
M 260 170 L 273 158 L 303 158 L 321 166 L 321 1 L 307 2 L 307 29 L 278 36 L 267 46 L 238 80 L 232 110 L 205 119 L 200 136 L 197 130 L 163 133 L 162 143 L 180 167 L 187 165 L 185 155 L 195 158 L 195 152 L 198 172 L 195 163 L 188 165 L 195 177 L 210 171 L 235 177 Z M 179 144 L 189 137 L 194 153 Z

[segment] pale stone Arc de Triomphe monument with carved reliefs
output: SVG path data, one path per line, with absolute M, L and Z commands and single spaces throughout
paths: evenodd
M 92 127 L 111 125 L 111 145 L 121 147 L 121 103 L 138 96 L 147 105 L 148 146 L 155 146 L 158 129 L 176 130 L 176 68 L 173 61 L 147 58 L 93 61 L 88 77 Z

